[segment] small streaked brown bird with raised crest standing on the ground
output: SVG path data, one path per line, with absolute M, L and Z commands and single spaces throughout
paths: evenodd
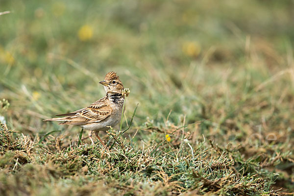
M 107 131 L 109 126 L 118 124 L 125 110 L 123 103 L 125 94 L 123 93 L 123 83 L 115 72 L 109 72 L 105 75 L 103 81 L 99 82 L 104 86 L 106 96 L 98 99 L 88 107 L 76 110 L 74 112 L 56 115 L 58 118 L 46 119 L 44 121 L 59 121 L 65 125 L 78 125 L 83 129 L 89 130 L 89 138 L 92 145 L 95 145 L 92 134 L 105 146 L 99 137 L 99 131 Z

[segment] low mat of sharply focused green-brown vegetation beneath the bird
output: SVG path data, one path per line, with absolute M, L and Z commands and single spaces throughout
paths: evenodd
M 108 135 L 116 141 L 112 149 L 102 150 L 97 145 L 77 145 L 52 153 L 44 147 L 35 146 L 35 150 L 30 150 L 27 157 L 21 153 L 22 150 L 2 154 L 0 165 L 5 169 L 2 173 L 2 180 L 5 180 L 2 183 L 7 183 L 14 175 L 25 177 L 20 179 L 21 187 L 10 183 L 7 187 L 1 187 L 1 193 L 9 194 L 13 189 L 15 193 L 22 194 L 26 183 L 33 183 L 25 190 L 34 194 L 40 189 L 47 190 L 48 186 L 70 183 L 73 193 L 80 194 L 80 183 L 89 186 L 98 180 L 104 181 L 109 187 L 108 190 L 103 190 L 105 194 L 115 192 L 122 195 L 145 195 L 147 191 L 170 195 L 194 190 L 197 194 L 209 192 L 228 196 L 279 195 L 270 188 L 277 174 L 263 172 L 259 165 L 261 160 L 246 159 L 236 148 L 222 149 L 212 141 L 208 144 L 202 141 L 193 144 L 196 155 L 192 158 L 189 147 L 180 149 L 178 145 L 172 146 L 165 142 L 152 154 L 156 144 L 139 149 L 135 143 L 123 139 L 119 131 L 110 129 Z M 46 142 L 42 143 L 46 146 Z M 31 148 L 25 140 L 20 144 L 26 147 L 26 151 Z M 179 151 L 182 153 L 176 158 Z M 8 162 L 13 162 L 18 167 L 12 167 L 14 164 L 9 167 Z M 13 174 L 15 170 L 17 172 Z M 91 192 L 100 189 L 97 186 Z M 51 194 L 53 192 L 49 192 Z

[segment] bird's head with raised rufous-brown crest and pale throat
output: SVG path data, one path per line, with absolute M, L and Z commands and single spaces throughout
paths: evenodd
M 99 82 L 104 85 L 104 89 L 107 92 L 122 93 L 123 83 L 115 72 L 109 72 L 105 75 L 103 81 Z

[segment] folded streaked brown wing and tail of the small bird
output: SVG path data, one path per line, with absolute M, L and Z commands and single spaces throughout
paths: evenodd
M 111 107 L 106 105 L 105 98 L 100 98 L 86 108 L 76 110 L 75 112 L 58 115 L 66 116 L 63 118 L 53 118 L 48 121 L 62 121 L 60 124 L 81 125 L 89 123 L 98 123 L 111 114 Z

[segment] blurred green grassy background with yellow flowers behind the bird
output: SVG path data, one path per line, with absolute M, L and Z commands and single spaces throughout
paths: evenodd
M 206 120 L 189 130 L 221 146 L 247 147 L 261 125 L 292 154 L 293 0 L 0 0 L 2 11 L 11 11 L 0 16 L 10 129 L 78 133 L 42 119 L 103 97 L 98 82 L 115 71 L 131 91 L 128 121 L 139 103 L 131 132 L 172 111 L 175 125 Z

